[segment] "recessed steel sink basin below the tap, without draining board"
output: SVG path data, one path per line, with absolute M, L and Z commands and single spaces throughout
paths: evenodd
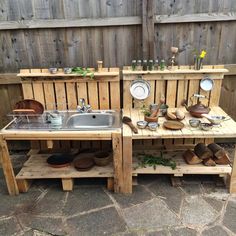
M 112 112 L 81 113 L 70 116 L 66 122 L 68 128 L 74 129 L 105 129 L 115 124 Z

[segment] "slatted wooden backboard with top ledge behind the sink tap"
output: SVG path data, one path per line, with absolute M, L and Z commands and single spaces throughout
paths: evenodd
M 102 68 L 94 73 L 94 79 L 77 74 L 50 74 L 48 69 L 23 69 L 21 77 L 24 99 L 41 102 L 46 110 L 74 110 L 79 98 L 84 98 L 92 109 L 120 109 L 119 68 Z M 47 149 L 45 141 L 32 142 L 34 149 Z M 110 148 L 111 141 L 54 141 L 54 149 L 73 148 Z

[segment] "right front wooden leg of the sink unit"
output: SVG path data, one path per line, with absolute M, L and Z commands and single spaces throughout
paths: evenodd
M 122 192 L 123 172 L 122 172 L 122 138 L 121 133 L 112 134 L 112 149 L 114 163 L 114 192 Z

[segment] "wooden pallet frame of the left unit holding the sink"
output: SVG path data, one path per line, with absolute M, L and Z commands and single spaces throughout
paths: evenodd
M 103 68 L 94 72 L 94 79 L 78 75 L 65 75 L 59 71 L 52 75 L 47 69 L 21 70 L 24 98 L 40 101 L 47 110 L 76 109 L 78 99 L 84 98 L 92 109 L 120 109 L 120 80 L 118 68 Z M 31 156 L 24 163 L 21 171 L 15 175 L 8 151 L 7 141 L 34 141 Z M 93 147 L 103 147 L 103 143 L 113 149 L 113 164 L 104 167 L 94 167 L 87 172 L 79 172 L 74 167 L 64 167 L 63 170 L 48 167 L 45 159 L 48 154 L 38 151 L 46 148 L 69 149 L 73 142 L 90 142 Z M 0 136 L 2 167 L 4 170 L 9 194 L 17 195 L 26 192 L 33 179 L 61 179 L 63 190 L 73 189 L 73 179 L 89 177 L 107 178 L 108 188 L 122 192 L 122 138 L 121 128 L 107 131 L 30 131 L 3 129 Z M 71 146 L 72 145 L 72 146 Z M 78 148 L 78 143 L 74 144 Z M 79 146 L 80 148 L 81 146 Z M 86 146 L 88 147 L 88 145 Z

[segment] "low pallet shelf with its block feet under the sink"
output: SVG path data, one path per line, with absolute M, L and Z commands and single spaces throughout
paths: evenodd
M 64 191 L 73 190 L 73 180 L 76 178 L 107 178 L 107 187 L 113 189 L 114 168 L 94 166 L 89 171 L 77 171 L 73 164 L 63 168 L 50 167 L 46 160 L 50 154 L 34 154 L 24 163 L 16 176 L 20 192 L 27 192 L 34 179 L 61 179 Z

